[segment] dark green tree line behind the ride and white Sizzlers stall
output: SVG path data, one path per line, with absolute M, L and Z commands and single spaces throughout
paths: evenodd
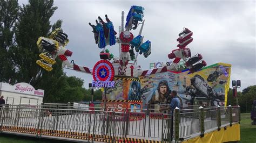
M 61 61 L 51 72 L 36 64 L 39 37 L 48 37 L 51 31 L 62 26 L 62 20 L 51 25 L 50 18 L 57 10 L 53 0 L 32 1 L 19 5 L 18 1 L 0 0 L 0 81 L 15 84 L 30 83 L 44 89 L 43 102 L 90 101 L 91 90 L 83 88 L 83 80 L 65 75 Z M 95 100 L 102 92 L 95 92 Z

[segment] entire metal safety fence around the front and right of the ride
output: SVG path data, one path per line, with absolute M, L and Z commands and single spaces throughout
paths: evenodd
M 77 108 L 76 104 L 3 105 L 0 132 L 21 132 L 104 142 L 172 142 L 204 136 L 240 121 L 240 107 L 174 109 Z M 82 107 L 82 106 L 80 106 Z M 91 109 L 91 110 L 89 110 Z M 131 112 L 133 111 L 133 112 Z

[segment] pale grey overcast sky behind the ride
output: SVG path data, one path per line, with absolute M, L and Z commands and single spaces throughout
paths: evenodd
M 27 1 L 20 1 L 27 3 Z M 188 45 L 192 55 L 200 53 L 207 66 L 225 62 L 232 65 L 231 81 L 241 80 L 241 89 L 256 84 L 255 1 L 55 1 L 58 9 L 51 23 L 62 19 L 62 28 L 69 35 L 66 48 L 73 52 L 69 60 L 80 66 L 93 68 L 100 60 L 100 49 L 95 44 L 92 28 L 98 16 L 107 14 L 118 32 L 121 12 L 129 12 L 132 5 L 143 6 L 144 40 L 150 40 L 152 53 L 148 58 L 139 56 L 138 65 L 149 69 L 150 62 L 166 62 L 176 49 L 178 33 L 183 27 L 193 32 Z M 132 31 L 133 35 L 138 30 Z M 118 46 L 107 46 L 118 56 Z M 54 70 L 54 69 L 53 69 Z M 84 79 L 88 88 L 92 76 L 65 69 L 67 75 Z

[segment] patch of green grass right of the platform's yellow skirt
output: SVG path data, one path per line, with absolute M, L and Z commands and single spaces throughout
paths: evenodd
M 256 142 L 256 125 L 252 125 L 251 114 L 242 113 L 240 122 L 241 142 Z

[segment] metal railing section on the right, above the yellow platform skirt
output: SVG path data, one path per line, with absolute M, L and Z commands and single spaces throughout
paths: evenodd
M 208 130 L 218 129 L 223 126 L 232 126 L 233 123 L 240 123 L 240 106 L 174 110 L 174 138 L 184 140 L 191 138 L 194 134 L 204 133 Z

